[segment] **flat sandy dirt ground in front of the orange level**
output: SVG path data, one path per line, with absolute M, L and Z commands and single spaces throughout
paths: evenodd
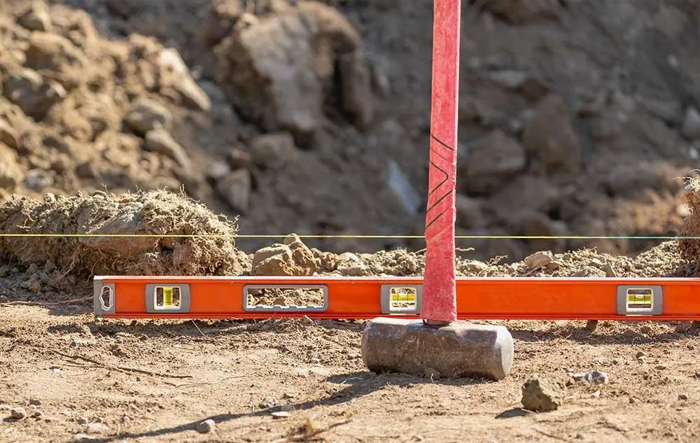
M 8 442 L 694 442 L 699 330 L 688 323 L 506 322 L 500 382 L 367 372 L 362 321 L 99 321 L 84 307 L 0 307 Z M 636 358 L 644 352 L 645 361 Z M 116 368 L 123 367 L 125 370 Z M 554 412 L 521 409 L 532 373 L 566 383 Z M 137 372 L 137 371 L 145 371 Z M 35 404 L 36 406 L 33 406 Z M 273 412 L 287 411 L 279 419 Z M 33 414 L 41 415 L 34 418 Z M 206 419 L 211 433 L 195 428 Z M 106 428 L 86 434 L 93 423 Z M 309 424 L 311 423 L 311 424 Z M 309 435 L 313 430 L 323 430 Z M 285 437 L 288 437 L 285 440 Z

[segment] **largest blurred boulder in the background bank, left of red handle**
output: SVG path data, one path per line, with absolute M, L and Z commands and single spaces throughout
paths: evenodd
M 267 132 L 307 144 L 332 101 L 358 125 L 372 120 L 371 78 L 360 36 L 335 8 L 298 3 L 239 20 L 216 48 L 216 79 L 229 101 Z

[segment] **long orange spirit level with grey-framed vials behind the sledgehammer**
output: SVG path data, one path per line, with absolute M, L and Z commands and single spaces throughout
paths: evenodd
M 461 319 L 700 320 L 700 279 L 458 278 L 456 289 Z M 316 290 L 319 301 L 250 303 L 260 290 Z M 94 314 L 419 318 L 422 292 L 423 280 L 416 277 L 96 276 Z

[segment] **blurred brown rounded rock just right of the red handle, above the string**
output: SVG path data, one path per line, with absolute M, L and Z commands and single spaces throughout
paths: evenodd
M 525 150 L 520 143 L 498 129 L 477 141 L 464 157 L 459 169 L 465 177 L 464 189 L 473 194 L 498 190 L 526 165 Z

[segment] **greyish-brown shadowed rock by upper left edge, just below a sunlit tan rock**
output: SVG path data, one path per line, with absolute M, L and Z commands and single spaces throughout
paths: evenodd
M 51 106 L 66 97 L 66 90 L 53 80 L 44 81 L 36 71 L 18 69 L 6 75 L 5 96 L 25 114 L 41 121 Z

